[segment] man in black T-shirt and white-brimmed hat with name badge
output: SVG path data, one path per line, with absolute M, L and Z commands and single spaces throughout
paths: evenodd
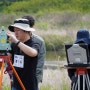
M 15 67 L 26 90 L 38 90 L 36 79 L 37 56 L 40 45 L 32 41 L 30 32 L 35 31 L 29 26 L 27 19 L 16 19 L 13 25 L 10 25 L 7 35 L 10 37 L 13 66 Z M 15 33 L 12 34 L 12 32 Z M 22 87 L 13 76 L 12 90 L 22 90 Z

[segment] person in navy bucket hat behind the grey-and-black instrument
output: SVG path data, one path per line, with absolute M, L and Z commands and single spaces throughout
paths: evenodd
M 89 31 L 87 29 L 80 29 L 77 32 L 75 43 L 76 44 L 77 43 L 78 44 L 84 44 L 84 43 L 88 44 L 88 48 L 89 48 L 89 52 L 90 52 L 90 35 L 89 35 Z M 87 71 L 88 71 L 88 75 L 89 75 L 89 78 L 90 78 L 90 69 L 87 69 Z M 77 79 L 77 77 L 75 76 L 75 72 L 76 72 L 76 69 L 68 69 L 68 75 L 69 75 L 69 77 L 71 79 L 71 90 L 72 90 L 73 83 Z M 78 90 L 78 88 L 76 90 Z M 83 77 L 82 76 L 80 77 L 80 90 L 83 90 Z M 85 85 L 85 90 L 88 90 L 86 85 Z

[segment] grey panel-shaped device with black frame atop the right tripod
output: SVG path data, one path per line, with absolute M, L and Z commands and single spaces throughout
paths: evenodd
M 87 67 L 90 66 L 88 44 L 65 45 L 67 63 L 70 67 Z

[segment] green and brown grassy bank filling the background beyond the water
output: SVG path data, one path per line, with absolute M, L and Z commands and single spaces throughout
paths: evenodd
M 34 16 L 36 33 L 44 38 L 46 50 L 55 52 L 56 59 L 58 55 L 65 57 L 64 45 L 74 42 L 75 31 L 90 28 L 90 0 L 14 1 L 19 2 L 0 1 L 0 27 L 5 26 L 7 30 L 16 18 Z

